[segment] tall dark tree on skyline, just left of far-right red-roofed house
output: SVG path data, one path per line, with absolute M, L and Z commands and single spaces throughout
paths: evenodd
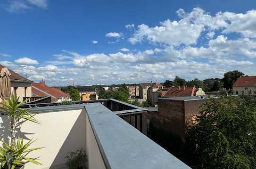
M 242 72 L 239 72 L 238 70 L 226 72 L 222 79 L 222 81 L 224 83 L 224 87 L 226 89 L 231 89 L 231 87 L 235 83 L 235 81 L 239 77 L 243 77 L 243 76 L 244 76 L 244 74 Z

